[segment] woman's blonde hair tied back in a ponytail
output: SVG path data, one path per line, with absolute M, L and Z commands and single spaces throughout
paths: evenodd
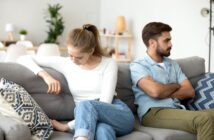
M 97 27 L 85 24 L 82 28 L 76 28 L 69 33 L 67 45 L 78 47 L 82 52 L 89 53 L 94 50 L 93 55 L 103 56 L 100 46 L 100 37 Z

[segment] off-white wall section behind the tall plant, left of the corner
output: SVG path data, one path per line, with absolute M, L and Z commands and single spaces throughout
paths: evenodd
M 6 23 L 15 26 L 15 39 L 19 39 L 18 32 L 21 28 L 28 30 L 28 39 L 35 45 L 44 42 L 48 30 L 45 22 L 45 13 L 48 4 L 60 3 L 60 10 L 64 21 L 65 30 L 59 38 L 64 45 L 66 35 L 74 27 L 80 27 L 85 23 L 99 25 L 99 0 L 0 0 L 0 40 L 6 39 L 4 30 Z

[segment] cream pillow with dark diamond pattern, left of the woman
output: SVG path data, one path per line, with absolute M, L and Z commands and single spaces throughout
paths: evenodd
M 33 139 L 46 140 L 53 132 L 49 118 L 20 85 L 0 80 L 0 112 L 26 124 Z

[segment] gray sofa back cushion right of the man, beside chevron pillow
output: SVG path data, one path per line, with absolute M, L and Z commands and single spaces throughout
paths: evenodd
M 201 75 L 205 73 L 205 60 L 198 56 L 176 59 L 182 71 L 195 87 Z

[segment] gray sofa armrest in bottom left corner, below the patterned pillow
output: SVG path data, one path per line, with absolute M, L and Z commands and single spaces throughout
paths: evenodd
M 3 139 L 30 140 L 31 132 L 27 125 L 0 114 L 0 140 Z

